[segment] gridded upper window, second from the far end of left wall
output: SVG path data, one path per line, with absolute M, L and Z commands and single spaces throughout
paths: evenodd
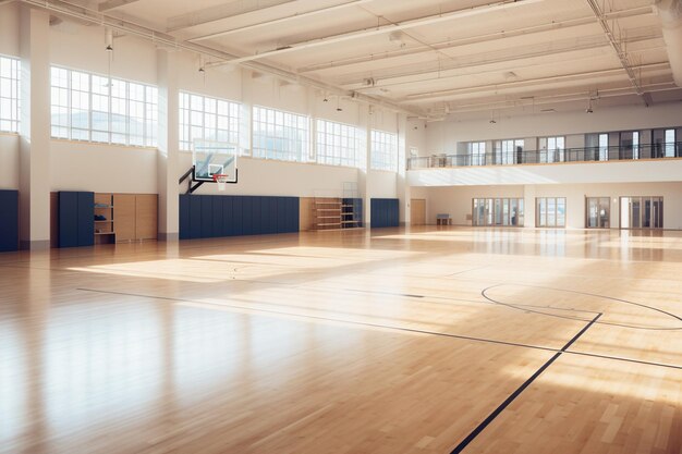
M 317 162 L 361 167 L 364 131 L 356 126 L 317 120 Z

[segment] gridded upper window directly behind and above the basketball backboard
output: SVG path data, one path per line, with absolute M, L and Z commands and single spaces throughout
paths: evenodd
M 192 150 L 194 140 L 240 142 L 238 102 L 180 93 L 180 149 Z

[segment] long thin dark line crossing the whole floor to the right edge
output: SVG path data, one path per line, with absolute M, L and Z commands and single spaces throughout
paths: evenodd
M 521 347 L 521 348 L 540 349 L 545 352 L 555 352 L 555 353 L 561 352 L 561 349 L 546 347 L 543 345 L 532 345 L 532 344 L 521 344 L 521 343 L 515 343 L 515 342 L 496 341 L 494 339 L 474 338 L 474 336 L 460 335 L 460 334 L 449 334 L 449 333 L 442 333 L 442 332 L 437 332 L 437 331 L 418 330 L 415 328 L 394 327 L 394 326 L 389 326 L 389 324 L 369 323 L 365 321 L 355 321 L 355 320 L 344 320 L 344 319 L 338 319 L 338 318 L 331 318 L 331 317 L 310 316 L 310 315 L 305 315 L 305 314 L 287 312 L 284 310 L 261 309 L 261 308 L 240 306 L 240 305 L 234 305 L 234 304 L 217 304 L 217 303 L 202 302 L 202 300 L 196 300 L 196 299 L 174 298 L 171 296 L 155 296 L 155 295 L 138 294 L 138 293 L 125 293 L 125 292 L 85 289 L 85 287 L 78 287 L 76 290 L 81 292 L 100 293 L 100 294 L 108 294 L 108 295 L 134 296 L 134 297 L 139 297 L 139 298 L 147 298 L 147 299 L 161 299 L 161 300 L 169 300 L 169 302 L 175 302 L 175 303 L 192 303 L 192 304 L 199 304 L 199 305 L 206 305 L 206 306 L 219 306 L 219 307 L 224 307 L 224 308 L 249 310 L 252 312 L 276 314 L 276 315 L 290 316 L 290 317 L 299 317 L 303 319 L 307 318 L 307 319 L 313 319 L 313 320 L 333 321 L 337 323 L 354 324 L 354 326 L 360 326 L 360 327 L 382 328 L 382 329 L 393 330 L 393 331 L 404 331 L 404 332 L 412 332 L 412 333 L 417 333 L 417 334 L 428 334 L 428 335 L 436 335 L 436 336 L 442 336 L 442 338 L 460 339 L 463 341 L 483 342 L 483 343 L 488 343 L 488 344 L 507 345 L 507 346 L 514 346 L 514 347 Z M 620 356 L 609 356 L 609 355 L 600 355 L 600 354 L 588 353 L 588 352 L 571 352 L 571 351 L 565 351 L 563 353 L 569 354 L 569 355 L 588 356 L 592 358 L 611 359 L 616 361 L 633 363 L 633 364 L 641 364 L 644 366 L 665 367 L 669 369 L 682 370 L 682 366 L 663 364 L 663 363 L 651 363 L 651 361 L 645 361 L 641 359 L 623 358 Z

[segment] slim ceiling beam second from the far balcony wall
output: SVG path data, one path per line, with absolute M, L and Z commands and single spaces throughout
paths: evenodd
M 646 71 L 656 71 L 656 70 L 665 70 L 665 69 L 670 70 L 670 64 L 668 64 L 668 62 L 651 63 L 651 64 L 637 66 L 636 69 L 646 70 Z M 519 81 L 519 82 L 506 82 L 506 83 L 500 83 L 500 84 L 487 84 L 487 85 L 478 85 L 478 86 L 472 86 L 472 87 L 427 91 L 427 93 L 407 95 L 405 97 L 405 100 L 410 102 L 433 101 L 433 100 L 440 100 L 444 97 L 468 95 L 468 94 L 474 94 L 474 93 L 482 94 L 484 91 L 499 93 L 504 89 L 524 88 L 524 87 L 536 88 L 543 84 L 579 82 L 585 78 L 593 81 L 593 85 L 594 85 L 594 77 L 608 77 L 608 76 L 622 76 L 622 70 L 618 68 L 618 69 L 610 69 L 610 70 L 587 71 L 587 72 L 582 72 L 582 73 L 555 75 L 555 76 L 549 76 L 549 77 L 539 77 L 539 78 L 525 79 L 525 81 Z M 539 89 L 539 88 L 536 88 L 536 89 Z

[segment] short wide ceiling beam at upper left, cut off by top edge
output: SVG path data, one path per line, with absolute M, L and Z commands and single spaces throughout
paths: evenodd
M 258 0 L 224 2 L 212 8 L 205 8 L 168 20 L 168 33 L 180 32 L 199 25 L 211 24 L 228 19 L 235 19 L 244 14 L 263 12 L 282 4 L 294 3 L 297 0 Z

